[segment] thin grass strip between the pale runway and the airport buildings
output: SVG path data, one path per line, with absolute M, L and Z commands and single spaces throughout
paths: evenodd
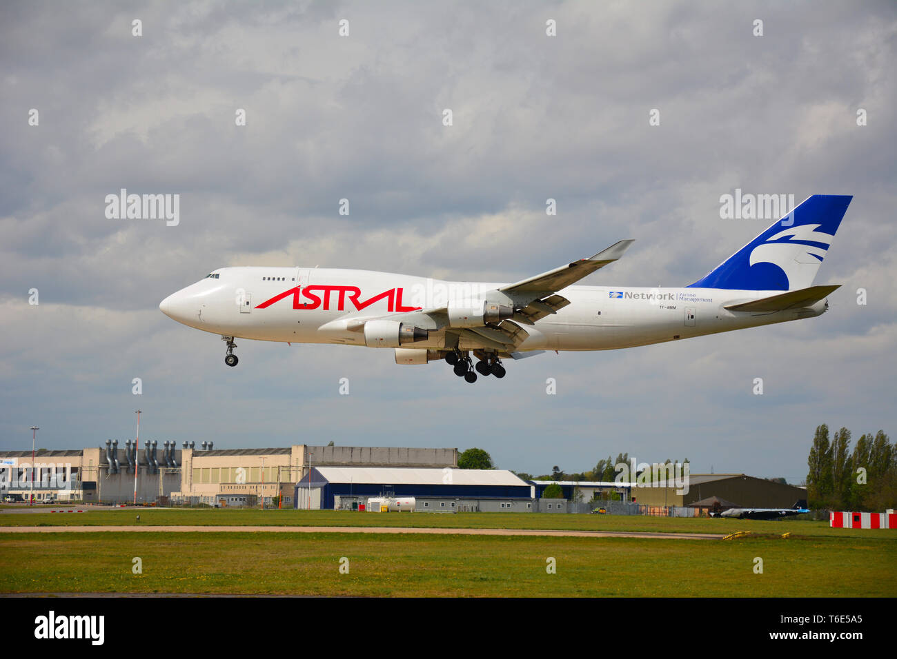
M 437 528 L 652 531 L 659 533 L 796 533 L 809 536 L 890 538 L 897 530 L 832 529 L 811 520 L 756 521 L 684 517 L 552 515 L 549 513 L 358 513 L 344 510 L 226 510 L 122 508 L 86 513 L 0 513 L 0 526 L 133 525 L 410 526 Z

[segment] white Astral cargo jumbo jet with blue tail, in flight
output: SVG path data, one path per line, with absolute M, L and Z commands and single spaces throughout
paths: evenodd
M 477 373 L 504 377 L 502 360 L 544 351 L 616 350 L 821 316 L 840 284 L 813 281 L 852 198 L 808 197 L 681 288 L 573 285 L 623 256 L 633 242 L 627 239 L 514 283 L 222 267 L 159 308 L 183 325 L 221 334 L 230 367 L 239 361 L 237 338 L 335 343 L 393 348 L 401 365 L 445 360 L 473 383 Z

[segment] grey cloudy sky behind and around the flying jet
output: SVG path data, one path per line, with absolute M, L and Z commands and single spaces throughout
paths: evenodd
M 891 2 L 6 2 L 0 449 L 35 424 L 39 447 L 124 441 L 139 406 L 160 443 L 475 446 L 531 473 L 628 451 L 802 481 L 816 425 L 897 433 L 895 43 Z M 120 188 L 179 194 L 179 225 L 107 219 Z M 720 219 L 736 188 L 855 195 L 816 279 L 843 284 L 829 313 L 471 386 L 326 345 L 240 341 L 229 369 L 158 308 L 224 265 L 511 282 L 622 238 L 583 283 L 685 285 L 771 223 Z

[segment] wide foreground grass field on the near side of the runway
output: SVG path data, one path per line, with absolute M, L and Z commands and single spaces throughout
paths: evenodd
M 143 573 L 132 573 L 140 557 Z M 341 557 L 349 574 L 340 574 Z M 556 560 L 556 574 L 546 559 Z M 763 573 L 753 572 L 754 559 Z M 356 533 L 0 537 L 4 593 L 894 596 L 897 542 Z

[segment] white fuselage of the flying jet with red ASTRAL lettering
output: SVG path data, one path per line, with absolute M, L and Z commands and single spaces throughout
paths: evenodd
M 363 334 L 347 329 L 345 320 L 440 308 L 502 285 L 335 268 L 227 267 L 174 293 L 160 308 L 184 325 L 235 338 L 364 345 Z M 529 336 L 516 351 L 630 348 L 819 316 L 827 306 L 821 300 L 774 313 L 724 308 L 781 292 L 570 286 L 558 291 L 570 305 L 527 325 Z M 444 330 L 431 331 L 407 347 L 443 349 L 445 338 Z M 462 336 L 457 347 L 475 346 Z

